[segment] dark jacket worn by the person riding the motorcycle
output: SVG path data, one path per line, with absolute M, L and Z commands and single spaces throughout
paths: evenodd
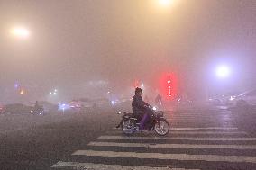
M 133 96 L 133 103 L 132 103 L 133 114 L 136 114 L 136 115 L 143 114 L 145 112 L 145 105 L 149 105 L 149 104 L 145 103 L 142 100 L 141 95 Z

